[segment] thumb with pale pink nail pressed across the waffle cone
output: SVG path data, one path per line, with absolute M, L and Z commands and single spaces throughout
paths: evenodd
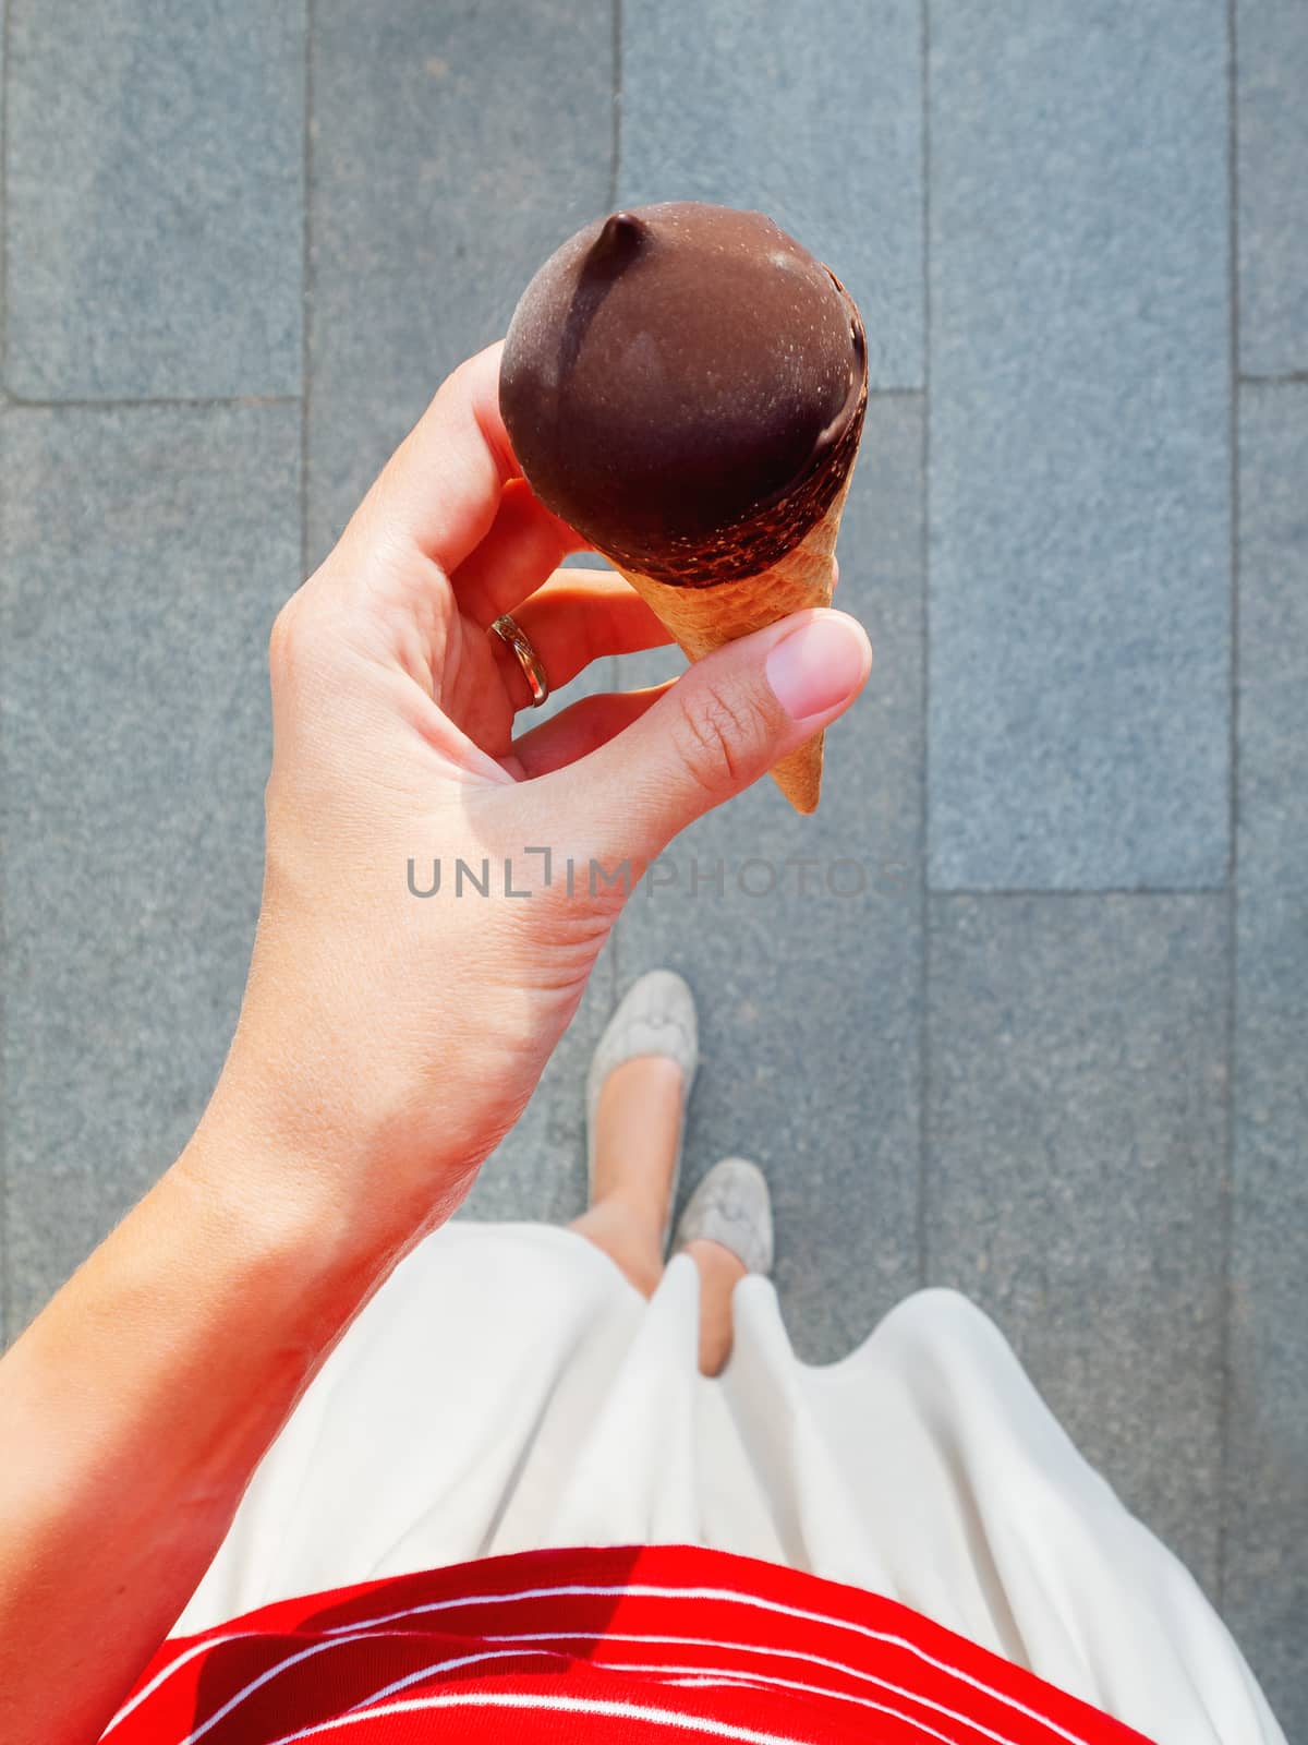
M 572 764 L 588 834 L 605 853 L 656 859 L 687 824 L 842 714 L 870 668 L 863 626 L 816 607 L 706 654 L 638 721 Z

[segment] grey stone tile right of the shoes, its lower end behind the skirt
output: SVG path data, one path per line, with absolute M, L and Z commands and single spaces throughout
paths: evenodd
M 1217 1591 L 1223 895 L 940 897 L 926 1276 Z

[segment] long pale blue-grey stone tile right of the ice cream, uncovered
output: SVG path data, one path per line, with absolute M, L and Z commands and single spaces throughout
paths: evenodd
M 1219 886 L 1226 9 L 931 7 L 930 871 Z

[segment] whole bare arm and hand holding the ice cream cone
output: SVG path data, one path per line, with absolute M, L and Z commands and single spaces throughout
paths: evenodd
M 501 612 L 555 686 L 668 637 L 616 578 L 551 576 L 582 541 L 516 478 L 497 379 L 499 347 L 450 377 L 279 614 L 263 904 L 215 1098 L 0 1359 L 14 1745 L 94 1745 L 323 1359 L 521 1113 L 628 893 L 549 883 L 532 850 L 638 876 L 867 675 L 853 621 L 804 612 L 514 736 Z M 865 651 L 839 698 L 806 635 L 830 621 Z M 419 899 L 433 855 L 511 864 L 530 897 Z

